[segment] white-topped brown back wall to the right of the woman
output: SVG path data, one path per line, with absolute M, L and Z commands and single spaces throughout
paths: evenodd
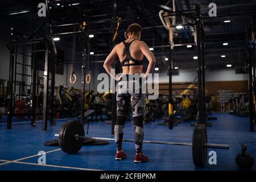
M 174 83 L 192 82 L 197 73 L 195 71 L 180 70 L 179 76 L 172 76 Z M 213 111 L 220 111 L 220 103 L 217 102 L 218 90 L 233 90 L 233 92 L 248 93 L 247 74 L 236 74 L 234 69 L 222 69 L 219 71 L 206 71 L 205 88 L 208 94 L 214 95 Z M 159 75 L 159 93 L 168 94 L 168 76 L 166 74 Z M 174 85 L 173 88 L 187 88 L 188 85 Z M 183 90 L 175 90 L 177 94 Z M 191 92 L 192 93 L 192 92 Z

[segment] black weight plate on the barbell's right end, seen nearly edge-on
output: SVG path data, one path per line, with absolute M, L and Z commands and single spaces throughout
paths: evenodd
M 196 124 L 193 130 L 192 155 L 196 167 L 205 167 L 207 161 L 207 130 L 205 125 Z

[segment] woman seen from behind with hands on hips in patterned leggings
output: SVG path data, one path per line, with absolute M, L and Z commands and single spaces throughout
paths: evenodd
M 134 139 L 136 154 L 134 156 L 135 163 L 141 163 L 148 161 L 148 157 L 142 154 L 142 143 L 143 143 L 143 113 L 145 106 L 145 94 L 141 92 L 141 89 L 132 90 L 131 87 L 135 88 L 138 80 L 129 80 L 129 76 L 135 74 L 141 74 L 143 69 L 143 56 L 146 56 L 149 61 L 147 71 L 143 77 L 147 77 L 148 74 L 154 70 L 155 67 L 155 56 L 152 54 L 147 44 L 141 39 L 141 26 L 137 23 L 131 24 L 127 28 L 127 37 L 125 41 L 117 44 L 110 52 L 104 63 L 106 72 L 110 75 L 110 69 L 118 56 L 122 65 L 122 76 L 110 75 L 118 81 L 117 89 L 117 121 L 114 127 L 115 133 L 115 145 L 117 152 L 115 154 L 115 160 L 122 160 L 126 158 L 125 152 L 122 150 L 123 140 L 123 127 L 127 117 L 129 104 L 133 109 L 133 123 L 134 123 Z M 139 82 L 141 86 L 141 82 Z M 127 92 L 129 90 L 129 92 Z

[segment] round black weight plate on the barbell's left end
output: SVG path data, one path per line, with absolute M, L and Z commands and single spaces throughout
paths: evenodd
M 67 152 L 68 154 L 76 154 L 79 152 L 79 150 L 82 147 L 82 144 L 84 143 L 84 139 L 76 139 L 75 135 L 84 136 L 84 127 L 79 121 L 70 121 L 67 123 L 67 125 L 64 127 L 63 133 L 60 136 L 62 139 L 60 142 L 63 147 L 64 152 Z

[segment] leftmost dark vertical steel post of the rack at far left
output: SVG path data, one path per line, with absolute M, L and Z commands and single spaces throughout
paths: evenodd
M 11 28 L 11 41 L 15 41 L 14 29 Z M 10 68 L 9 68 L 9 89 L 8 89 L 8 109 L 7 109 L 7 130 L 11 130 L 11 121 L 13 117 L 13 74 L 14 74 L 14 46 L 10 47 Z

